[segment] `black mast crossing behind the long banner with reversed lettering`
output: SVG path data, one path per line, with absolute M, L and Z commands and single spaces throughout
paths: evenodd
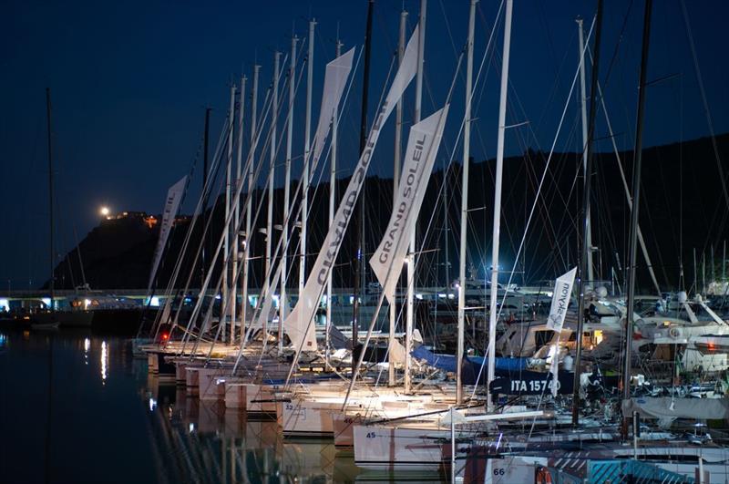
M 362 156 L 364 151 L 364 145 L 367 142 L 367 98 L 369 96 L 370 88 L 370 57 L 372 55 L 372 14 L 373 8 L 375 7 L 375 0 L 369 0 L 367 4 L 367 26 L 364 31 L 364 69 L 363 69 L 363 81 L 362 81 L 362 108 L 360 115 L 360 133 L 359 133 L 359 154 Z M 364 186 L 363 186 L 364 190 Z M 352 304 L 352 374 L 356 371 L 356 360 L 354 357 L 354 350 L 357 347 L 357 333 L 359 330 L 359 293 L 360 293 L 360 274 L 363 270 L 364 263 L 364 201 L 363 197 L 359 197 L 354 206 L 354 213 L 359 214 L 359 221 L 354 221 L 357 224 L 357 253 L 356 261 L 354 264 L 354 298 Z M 362 288 L 364 291 L 364 288 Z

